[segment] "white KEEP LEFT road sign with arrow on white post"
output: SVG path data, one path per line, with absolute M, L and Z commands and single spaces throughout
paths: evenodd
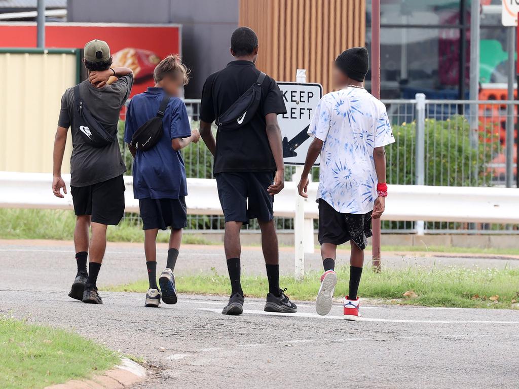
M 303 173 L 308 146 L 308 126 L 313 110 L 322 96 L 322 86 L 306 83 L 306 70 L 298 69 L 296 82 L 278 82 L 283 95 L 287 113 L 278 115 L 278 122 L 283 138 L 283 157 L 285 165 L 296 165 L 292 180 L 299 182 Z M 316 164 L 318 165 L 318 163 Z M 310 177 L 311 178 L 311 177 Z M 311 200 L 311 199 L 310 199 Z M 305 275 L 305 253 L 313 253 L 313 219 L 305 219 L 306 199 L 298 195 L 295 198 L 294 243 L 295 243 L 295 278 Z

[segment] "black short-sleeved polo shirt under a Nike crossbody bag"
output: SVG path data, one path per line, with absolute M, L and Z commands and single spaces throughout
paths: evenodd
M 202 90 L 200 119 L 208 123 L 217 119 L 256 82 L 259 74 L 251 61 L 233 61 L 223 70 L 211 74 Z M 285 113 L 285 103 L 276 81 L 265 77 L 260 106 L 248 125 L 236 131 L 218 129 L 214 174 L 276 171 L 265 116 Z

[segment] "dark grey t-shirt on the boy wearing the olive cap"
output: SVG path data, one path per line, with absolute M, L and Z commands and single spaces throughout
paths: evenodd
M 112 85 L 96 88 L 88 80 L 81 82 L 81 100 L 92 116 L 106 129 L 117 126 L 121 107 L 128 99 L 133 84 L 133 76 L 119 78 Z M 71 186 L 81 187 L 97 184 L 117 177 L 126 172 L 122 161 L 119 143 L 113 142 L 105 147 L 93 147 L 83 141 L 78 126 L 74 125 L 74 88 L 69 88 L 61 98 L 58 126 L 69 128 L 72 133 Z

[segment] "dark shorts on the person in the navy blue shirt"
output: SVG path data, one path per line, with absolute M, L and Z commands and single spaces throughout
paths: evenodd
M 142 229 L 174 230 L 187 227 L 187 208 L 184 196 L 178 199 L 139 199 Z

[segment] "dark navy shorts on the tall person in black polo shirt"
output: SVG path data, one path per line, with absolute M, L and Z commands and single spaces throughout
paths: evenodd
M 274 172 L 222 172 L 216 174 L 216 186 L 225 222 L 249 219 L 270 221 L 274 218 L 274 196 L 267 189 L 274 182 Z

